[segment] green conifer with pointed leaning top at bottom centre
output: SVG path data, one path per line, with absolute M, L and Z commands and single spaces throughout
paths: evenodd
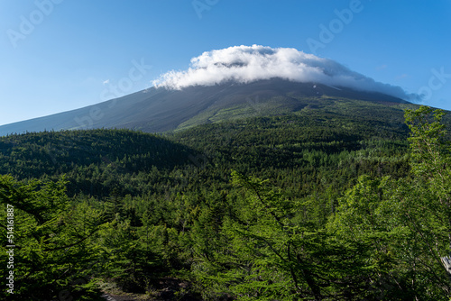
M 194 272 L 216 296 L 239 300 L 357 299 L 371 296 L 367 242 L 340 242 L 299 218 L 293 202 L 267 181 L 234 172 L 246 192 L 220 233 L 228 243 Z M 212 299 L 212 296 L 209 296 Z

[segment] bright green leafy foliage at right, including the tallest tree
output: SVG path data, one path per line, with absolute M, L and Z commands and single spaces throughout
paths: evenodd
M 430 114 L 434 113 L 433 122 Z M 449 144 L 443 112 L 406 111 L 411 177 L 359 178 L 340 199 L 329 230 L 352 242 L 372 242 L 370 262 L 382 299 L 447 300 L 450 283 L 440 258 L 450 251 Z

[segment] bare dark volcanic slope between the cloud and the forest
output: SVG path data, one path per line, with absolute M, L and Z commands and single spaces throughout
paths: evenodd
M 198 123 L 208 123 L 209 116 L 216 114 L 215 121 L 223 118 L 217 112 L 255 102 L 264 104 L 268 112 L 276 113 L 282 108 L 298 111 L 309 104 L 318 104 L 322 96 L 365 100 L 377 103 L 406 103 L 400 98 L 379 93 L 355 91 L 349 88 L 327 87 L 308 83 L 295 83 L 282 79 L 262 80 L 250 84 L 228 83 L 213 87 L 188 87 L 181 91 L 151 88 L 128 96 L 49 116 L 0 126 L 0 135 L 13 132 L 41 132 L 44 130 L 127 128 L 144 132 L 165 132 Z M 221 111 L 221 112 L 223 112 Z M 232 114 L 237 114 L 233 111 Z M 237 115 L 240 117 L 240 114 Z M 230 115 L 225 116 L 230 119 Z

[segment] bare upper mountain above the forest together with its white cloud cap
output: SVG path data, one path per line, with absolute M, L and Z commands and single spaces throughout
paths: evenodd
M 331 59 L 257 45 L 204 52 L 191 59 L 188 70 L 170 71 L 153 85 L 97 105 L 6 124 L 0 135 L 91 128 L 166 132 L 309 108 L 344 109 L 338 104 L 344 99 L 393 105 L 410 97 Z

